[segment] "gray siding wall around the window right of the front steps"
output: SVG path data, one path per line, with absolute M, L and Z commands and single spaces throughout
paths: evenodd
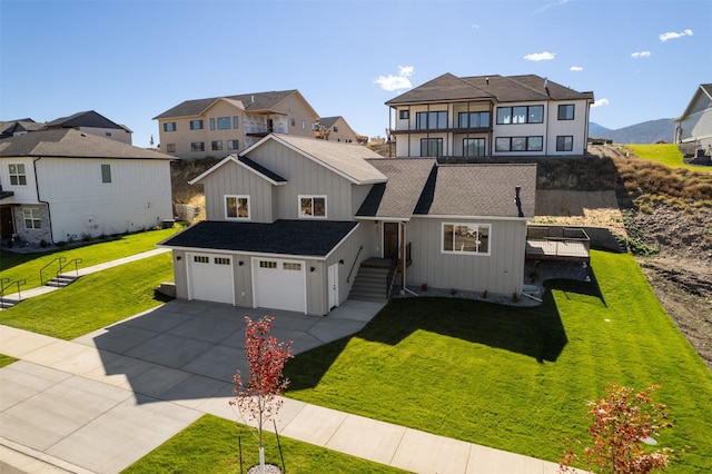
M 491 224 L 491 253 L 485 255 L 443 254 L 443 223 Z M 456 288 L 512 295 L 521 293 L 524 280 L 526 223 L 510 220 L 458 220 L 415 218 L 406 228 L 412 243 L 412 265 L 406 269 L 406 284 L 427 284 L 433 288 Z

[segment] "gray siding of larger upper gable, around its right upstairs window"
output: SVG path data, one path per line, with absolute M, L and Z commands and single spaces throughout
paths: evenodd
M 352 220 L 352 184 L 343 176 L 304 157 L 277 141 L 269 140 L 250 151 L 249 157 L 287 179 L 274 192 L 274 219 L 297 219 L 297 196 L 327 196 L 326 218 Z

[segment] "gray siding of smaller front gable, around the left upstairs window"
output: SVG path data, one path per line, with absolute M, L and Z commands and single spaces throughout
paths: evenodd
M 225 196 L 249 196 L 250 219 L 255 223 L 271 223 L 273 185 L 263 177 L 228 162 L 205 177 L 205 207 L 208 220 L 233 220 L 225 218 Z

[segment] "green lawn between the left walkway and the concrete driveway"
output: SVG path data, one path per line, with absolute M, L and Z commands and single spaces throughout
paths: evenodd
M 170 253 L 79 278 L 0 312 L 0 324 L 73 339 L 160 305 L 154 289 L 172 280 Z

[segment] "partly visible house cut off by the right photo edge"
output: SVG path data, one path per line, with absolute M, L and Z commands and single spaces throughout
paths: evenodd
M 694 144 L 712 155 L 712 83 L 703 83 L 675 122 L 675 142 Z

